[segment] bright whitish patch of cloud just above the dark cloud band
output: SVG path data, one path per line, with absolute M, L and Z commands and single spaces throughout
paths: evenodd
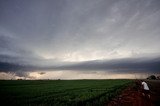
M 37 53 L 44 60 L 60 60 L 64 62 L 84 62 L 91 60 L 110 60 L 118 58 L 128 58 L 133 56 L 132 51 L 119 50 L 113 52 L 107 52 L 106 50 L 87 50 L 87 51 L 76 51 L 59 54 L 58 56 L 53 53 Z

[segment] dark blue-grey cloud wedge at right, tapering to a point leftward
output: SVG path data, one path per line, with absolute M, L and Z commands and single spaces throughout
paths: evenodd
M 64 70 L 104 70 L 113 73 L 160 73 L 160 58 L 126 58 L 110 61 L 95 60 L 58 67 Z M 57 68 L 57 69 L 58 69 Z

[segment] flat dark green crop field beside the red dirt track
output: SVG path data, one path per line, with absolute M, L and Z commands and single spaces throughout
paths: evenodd
M 2 80 L 0 106 L 104 105 L 132 80 Z

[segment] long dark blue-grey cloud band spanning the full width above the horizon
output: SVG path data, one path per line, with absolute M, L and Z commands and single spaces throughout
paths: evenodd
M 115 59 L 110 61 L 95 60 L 86 61 L 80 63 L 72 63 L 61 66 L 22 66 L 17 64 L 0 63 L 0 71 L 4 72 L 15 72 L 25 73 L 27 71 L 35 70 L 78 70 L 78 71 L 94 71 L 103 70 L 112 73 L 160 73 L 160 58 L 125 58 Z M 45 74 L 40 72 L 39 74 Z

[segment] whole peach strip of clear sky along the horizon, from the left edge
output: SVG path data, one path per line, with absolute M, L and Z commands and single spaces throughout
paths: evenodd
M 17 76 L 14 73 L 0 73 L 0 79 L 140 79 L 146 78 L 149 73 L 112 73 L 107 71 L 74 71 L 74 70 L 50 70 L 28 72 L 27 76 Z

